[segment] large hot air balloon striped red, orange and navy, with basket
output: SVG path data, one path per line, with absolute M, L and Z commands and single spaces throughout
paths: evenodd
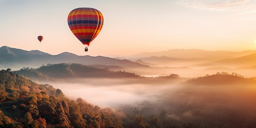
M 89 46 L 103 27 L 103 16 L 97 9 L 80 7 L 70 11 L 67 23 L 76 38 Z M 88 47 L 85 47 L 85 51 L 88 51 Z

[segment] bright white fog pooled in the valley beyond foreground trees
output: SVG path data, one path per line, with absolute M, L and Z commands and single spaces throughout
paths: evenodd
M 123 105 L 136 107 L 143 101 L 154 102 L 164 90 L 177 90 L 176 85 L 122 84 L 123 80 L 84 79 L 79 83 L 50 83 L 59 88 L 65 96 L 76 100 L 82 98 L 101 108 L 119 108 Z M 170 92 L 171 93 L 171 92 Z M 133 108 L 134 108 L 133 107 Z

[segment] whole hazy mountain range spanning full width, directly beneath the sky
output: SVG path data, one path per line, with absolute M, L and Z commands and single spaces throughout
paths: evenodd
M 143 52 L 126 58 L 110 58 L 78 56 L 68 52 L 51 55 L 38 50 L 26 51 L 8 46 L 0 47 L 0 68 L 2 69 L 20 70 L 23 67 L 37 68 L 47 64 L 80 63 L 109 70 L 125 70 L 145 76 L 179 74 L 195 77 L 223 71 L 252 76 L 252 71 L 249 70 L 256 70 L 254 58 L 256 58 L 256 51 L 252 50 L 231 52 L 172 49 L 164 52 Z

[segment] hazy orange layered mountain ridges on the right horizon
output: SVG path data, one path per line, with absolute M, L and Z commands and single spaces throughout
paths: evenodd
M 173 51 L 178 51 L 173 53 Z M 182 51 L 184 53 L 182 53 Z M 200 53 L 202 52 L 202 53 Z M 161 53 L 161 54 L 160 54 Z M 140 57 L 140 58 L 128 58 L 128 60 L 146 64 L 149 63 L 153 67 L 245 67 L 253 66 L 256 64 L 256 51 L 243 51 L 243 52 L 231 52 L 231 51 L 205 51 L 200 49 L 174 49 L 168 52 L 158 52 L 159 55 Z M 141 55 L 141 54 L 140 54 Z M 150 55 L 145 53 L 144 56 Z M 140 61 L 137 61 L 140 60 Z M 209 68 L 209 67 L 208 67 Z

